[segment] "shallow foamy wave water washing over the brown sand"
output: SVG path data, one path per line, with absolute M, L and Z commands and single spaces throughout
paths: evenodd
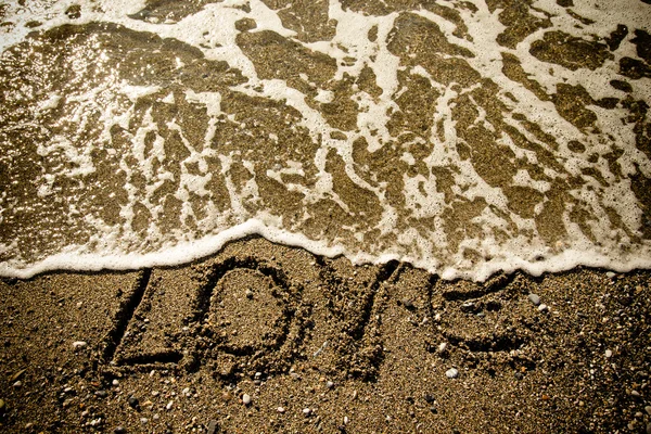
M 647 2 L 18 1 L 0 21 L 0 275 L 250 233 L 444 278 L 651 267 Z

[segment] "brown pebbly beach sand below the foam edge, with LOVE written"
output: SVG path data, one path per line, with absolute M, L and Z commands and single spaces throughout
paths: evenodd
M 650 278 L 448 282 L 253 238 L 3 280 L 0 431 L 643 433 Z

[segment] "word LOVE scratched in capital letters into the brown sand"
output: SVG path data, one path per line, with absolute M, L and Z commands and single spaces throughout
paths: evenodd
M 124 371 L 205 368 L 231 382 L 303 365 L 370 380 L 394 322 L 418 329 L 413 336 L 432 357 L 506 355 L 527 343 L 526 324 L 513 328 L 500 314 L 515 303 L 514 277 L 461 291 L 397 263 L 353 269 L 343 258 L 307 264 L 238 255 L 187 270 L 141 272 L 101 344 L 104 362 Z M 525 310 L 525 322 L 541 315 Z

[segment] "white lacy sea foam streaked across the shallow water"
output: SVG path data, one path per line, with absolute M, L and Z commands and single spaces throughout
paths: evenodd
M 250 5 L 248 12 L 241 8 L 246 3 Z M 76 71 L 88 71 L 89 62 L 94 62 L 93 66 L 107 73 L 102 84 L 88 88 L 81 87 L 65 94 L 52 91 L 29 95 L 35 100 L 38 99 L 34 105 L 35 114 L 44 117 L 54 110 L 62 110 L 64 115 L 61 123 L 69 125 L 69 130 L 53 133 L 50 140 L 37 143 L 38 154 L 43 158 L 62 158 L 63 155 L 63 159 L 72 166 L 72 168 L 66 168 L 65 164 L 56 166 L 56 169 L 43 173 L 36 180 L 38 182 L 36 195 L 42 200 L 39 206 L 46 206 L 49 201 L 68 202 L 68 220 L 84 219 L 87 226 L 92 228 L 93 232 L 90 234 L 92 244 L 74 245 L 63 242 L 54 253 L 48 253 L 49 256 L 42 258 L 41 255 L 39 256 L 41 259 L 29 261 L 23 260 L 20 255 L 12 257 L 11 253 L 17 252 L 20 247 L 15 243 L 5 242 L 0 253 L 10 259 L 0 263 L 0 275 L 30 277 L 52 269 L 133 269 L 179 265 L 213 254 L 225 243 L 250 234 L 259 234 L 282 244 L 302 246 L 316 254 L 327 256 L 344 254 L 355 263 L 406 260 L 447 279 L 462 277 L 483 280 L 494 272 L 500 270 L 510 272 L 515 269 L 539 275 L 544 271 L 566 270 L 577 265 L 608 267 L 617 271 L 650 268 L 651 242 L 635 239 L 641 235 L 643 216 L 628 176 L 641 171 L 643 176 L 651 177 L 651 162 L 635 146 L 634 124 L 622 123 L 627 112 L 623 107 L 605 110 L 596 105 L 588 106 L 596 114 L 596 127 L 601 132 L 584 131 L 563 118 L 551 101 L 539 101 L 522 84 L 509 79 L 502 72 L 502 52 L 507 52 L 518 56 L 529 78 L 538 82 L 549 94 L 557 92 L 560 84 L 566 84 L 583 86 L 593 99 L 620 95 L 618 91 L 610 87 L 609 81 L 613 77 L 618 77 L 616 72 L 620 59 L 624 55 L 636 55 L 635 46 L 630 42 L 631 35 L 622 42 L 613 60 L 605 61 L 603 66 L 595 71 L 587 68 L 571 71 L 560 65 L 541 62 L 529 53 L 532 43 L 541 39 L 545 33 L 550 30 L 560 30 L 591 40 L 595 36 L 608 37 L 614 29 L 613 25 L 618 23 L 625 23 L 630 30 L 648 29 L 651 12 L 638 0 L 625 0 L 617 7 L 613 7 L 607 0 L 575 0 L 574 3 L 573 11 L 593 20 L 595 23 L 577 27 L 577 21 L 556 1 L 536 0 L 534 7 L 537 10 L 529 12 L 541 18 L 547 16 L 545 12 L 549 13 L 552 27 L 534 31 L 514 49 L 497 44 L 498 35 L 505 30 L 505 26 L 499 22 L 500 10 L 490 13 L 487 5 L 482 2 L 476 4 L 476 12 L 464 9 L 462 4 L 457 8 L 458 4 L 455 2 L 446 2 L 446 7 L 459 11 L 461 20 L 468 27 L 469 37 L 465 38 L 455 36 L 456 25 L 444 17 L 423 9 L 411 11 L 436 23 L 449 42 L 474 54 L 464 60 L 482 77 L 489 78 L 498 86 L 498 102 L 507 107 L 503 122 L 539 149 L 549 152 L 556 159 L 554 165 L 547 165 L 545 158 L 541 158 L 538 153 L 520 148 L 511 137 L 501 132 L 495 145 L 501 146 L 505 155 L 511 155 L 507 151 L 512 153 L 511 163 L 520 165 L 520 162 L 527 162 L 536 165 L 548 177 L 548 179 L 537 179 L 526 168 L 521 167 L 513 176 L 510 186 L 532 188 L 545 195 L 553 194 L 556 181 L 562 182 L 570 177 L 580 180 L 579 186 L 565 192 L 567 196 L 573 197 L 574 203 L 565 204 L 560 212 L 559 218 L 563 227 L 559 227 L 559 232 L 564 231 L 566 235 L 554 245 L 549 245 L 549 242 L 538 233 L 536 221 L 536 217 L 542 213 L 549 199 L 535 205 L 534 218 L 521 217 L 509 208 L 503 189 L 483 179 L 477 173 L 475 162 L 472 158 L 464 159 L 465 157 L 462 157 L 459 152 L 462 144 L 471 150 L 476 146 L 475 143 L 463 141 L 463 136 L 457 130 L 459 126 L 452 119 L 454 112 L 459 108 L 456 106 L 456 100 L 461 95 L 468 95 L 470 104 L 476 111 L 474 125 L 497 132 L 497 125 L 490 120 L 492 114 L 473 95 L 483 84 L 474 84 L 469 88 L 455 82 L 444 86 L 433 78 L 435 72 L 430 72 L 422 65 L 411 67 L 400 64 L 400 58 L 388 50 L 390 35 L 399 16 L 398 13 L 373 16 L 350 9 L 344 10 L 339 1 L 331 0 L 329 17 L 336 22 L 334 37 L 331 40 L 304 43 L 297 39 L 296 31 L 283 26 L 278 11 L 269 9 L 260 0 L 250 2 L 228 0 L 209 3 L 178 23 L 166 24 L 133 20 L 128 16 L 144 8 L 144 0 L 137 2 L 42 0 L 30 2 L 25 8 L 12 1 L 9 3 L 8 16 L 15 25 L 12 33 L 0 38 L 2 51 L 26 40 L 28 33 L 31 31 L 25 26 L 29 21 L 42 22 L 39 29 L 43 30 L 63 24 L 110 22 L 132 30 L 149 31 L 162 38 L 175 38 L 200 49 L 208 60 L 226 61 L 230 67 L 239 69 L 246 82 L 234 86 L 228 91 L 266 98 L 297 111 L 301 120 L 292 128 L 294 131 L 298 128 L 307 130 L 309 138 L 306 140 L 312 141 L 316 151 L 314 154 L 304 155 L 304 161 L 279 162 L 276 167 L 261 173 L 258 169 L 259 162 L 250 157 L 246 149 L 226 152 L 220 149 L 220 143 L 217 145 L 214 143 L 219 128 L 222 128 L 221 119 L 229 119 L 233 124 L 239 123 L 240 126 L 244 126 L 244 122 L 250 123 L 247 119 L 228 113 L 228 108 L 222 107 L 222 98 L 225 98 L 222 93 L 199 92 L 187 88 L 183 93 L 175 94 L 173 91 L 163 91 L 162 86 L 141 86 L 129 82 L 128 79 L 118 79 L 115 65 L 111 64 L 112 60 L 106 53 L 101 53 L 101 47 L 95 41 L 94 44 L 85 47 L 85 51 L 80 51 L 78 55 L 71 56 L 69 61 Z M 72 4 L 81 5 L 79 18 L 71 18 L 65 14 Z M 357 77 L 365 67 L 369 67 L 375 75 L 375 85 L 381 92 L 373 97 L 357 87 L 352 88 L 352 100 L 359 107 L 357 129 L 341 131 L 333 128 L 329 125 L 327 116 L 311 105 L 314 101 L 323 104 L 335 101 L 334 91 L 320 89 L 316 84 L 311 84 L 316 91 L 314 98 L 314 94 L 307 95 L 292 88 L 285 80 L 260 79 L 254 61 L 248 59 L 237 44 L 240 31 L 235 27 L 235 22 L 244 17 L 256 22 L 256 28 L 250 31 L 271 30 L 302 44 L 307 50 L 331 56 L 335 61 L 336 72 L 328 86 L 342 79 L 344 75 Z M 376 38 L 371 41 L 368 34 L 373 28 Z M 177 69 L 189 66 L 180 58 L 176 59 L 175 64 Z M 426 78 L 441 93 L 434 102 L 436 110 L 433 118 L 430 119 L 432 133 L 426 138 L 427 140 L 421 137 L 403 140 L 404 138 L 400 137 L 400 135 L 418 136 L 416 131 L 404 130 L 397 137 L 393 137 L 390 132 L 387 124 L 392 115 L 400 110 L 396 100 L 408 91 L 407 87 L 400 88 L 399 71 Z M 299 74 L 305 81 L 308 81 L 307 74 Z M 651 101 L 649 82 L 648 78 L 641 78 L 631 84 L 636 99 Z M 184 124 L 180 117 L 154 118 L 158 115 L 151 107 L 145 110 L 144 114 L 136 113 L 136 103 L 153 100 L 152 97 L 156 97 L 164 104 L 189 103 L 205 108 L 208 120 L 206 125 L 201 126 L 205 128 L 201 139 L 203 143 L 191 141 L 190 138 L 195 136 L 183 130 Z M 310 100 L 312 98 L 314 101 Z M 90 126 L 90 113 L 99 115 L 101 132 L 97 140 L 82 142 L 84 131 Z M 519 116 L 514 116 L 515 113 L 536 124 L 557 143 L 549 144 L 539 140 Z M 137 120 L 140 124 L 136 125 Z M 124 155 L 113 148 L 111 131 L 116 125 L 126 131 L 125 135 L 132 143 L 132 148 L 120 151 Z M 168 130 L 178 135 L 180 145 L 184 146 L 190 156 L 182 162 L 169 161 L 170 156 L 165 154 L 166 138 L 163 131 L 158 130 L 159 125 L 165 125 Z M 10 128 L 25 126 L 28 125 Z M 31 125 L 31 127 L 39 126 Z M 276 132 L 264 132 L 278 144 L 279 149 L 285 145 Z M 341 139 L 342 133 L 345 136 L 344 139 Z M 151 149 L 148 149 L 145 141 L 152 135 L 154 140 L 150 143 Z M 420 170 L 424 164 L 429 174 L 398 173 L 388 181 L 384 180 L 379 174 L 372 173 L 363 162 L 355 159 L 353 143 L 361 138 L 368 143 L 365 151 L 371 154 L 382 154 L 387 151 L 385 146 L 401 146 L 397 151 L 400 164 L 406 163 L 411 167 L 410 170 Z M 571 152 L 567 146 L 571 140 L 585 143 L 589 151 L 584 154 Z M 81 143 L 85 146 L 80 145 Z M 427 149 L 429 154 L 417 157 L 418 154 L 412 152 L 412 149 L 419 146 Z M 621 174 L 613 170 L 607 159 L 615 146 L 621 151 L 616 162 Z M 98 149 L 105 149 L 112 157 L 117 158 L 118 167 L 126 176 L 126 183 L 123 187 L 127 193 L 127 203 L 120 204 L 122 221 L 116 225 L 106 224 L 94 215 L 84 215 L 85 210 L 75 203 L 76 197 L 61 196 L 61 193 L 53 188 L 59 178 L 79 180 L 92 174 L 95 167 L 91 155 Z M 323 217 L 312 209 L 315 204 L 329 201 L 349 215 L 353 215 L 352 209 L 355 208 L 354 204 L 346 203 L 349 199 L 335 191 L 336 182 L 333 174 L 327 170 L 328 158 L 331 157 L 329 155 L 332 155 L 332 151 L 343 162 L 346 181 L 371 192 L 381 208 L 381 216 L 373 220 L 373 224 L 360 218 L 363 215 L 354 216 L 355 222 L 352 225 L 334 221 L 332 226 L 339 231 L 334 235 L 327 235 L 323 230 L 321 235 L 309 239 L 302 232 L 305 229 L 302 225 L 310 219 Z M 135 158 L 138 165 L 129 163 L 131 161 L 129 158 Z M 219 161 L 220 173 L 208 173 L 209 158 Z M 169 165 L 178 165 L 178 167 L 173 170 Z M 189 165 L 195 165 L 199 174 L 191 171 Z M 244 181 L 233 176 L 235 168 L 241 171 L 242 167 L 247 174 Z M 437 179 L 434 175 L 437 168 L 450 169 L 450 177 L 454 180 L 450 192 L 455 201 L 484 201 L 487 204 L 472 219 L 463 222 L 472 225 L 473 230 L 478 230 L 480 233 L 473 237 L 465 235 L 458 248 L 451 242 L 452 234 L 446 233 L 444 219 L 445 213 L 454 208 L 456 203 L 455 201 L 446 203 L 446 194 L 442 191 L 443 179 Z M 586 169 L 588 174 L 591 171 L 599 174 L 605 184 L 602 184 L 600 179 L 585 175 Z M 312 175 L 314 173 L 316 175 Z M 314 179 L 308 180 L 306 174 Z M 144 188 L 137 187 L 137 180 L 141 176 L 146 180 Z M 296 218 L 297 222 L 294 222 L 291 228 L 288 227 L 290 224 L 284 222 L 283 218 L 273 210 L 260 208 L 260 204 L 269 199 L 261 195 L 264 193 L 259 182 L 265 177 L 280 182 L 289 192 L 303 194 L 303 208 L 297 210 L 302 216 Z M 296 177 L 304 178 L 305 182 L 295 181 Z M 230 207 L 226 210 L 219 210 L 215 204 L 217 197 L 212 196 L 213 192 L 208 183 L 215 178 L 221 180 L 228 191 L 229 197 L 225 200 L 230 203 Z M 168 231 L 161 228 L 159 220 L 165 210 L 162 202 L 155 202 L 154 199 L 166 180 L 178 182 L 178 188 L 171 195 L 182 202 L 179 227 Z M 394 187 L 392 183 L 401 187 L 403 202 L 399 204 L 396 204 L 395 199 L 390 200 L 390 188 Z M 204 201 L 201 206 L 206 214 L 205 217 L 195 215 L 190 203 L 192 196 L 199 196 Z M 0 204 L 4 206 L 4 202 Z M 152 216 L 145 235 L 136 233 L 131 228 L 136 218 L 136 206 L 140 205 L 145 206 Z M 588 217 L 584 224 L 590 228 L 591 237 L 585 234 L 582 227 L 573 219 L 572 212 L 577 209 L 587 213 Z M 613 210 L 617 214 L 622 227 L 611 221 L 609 213 Z M 14 212 L 17 212 L 17 208 L 3 209 L 3 213 Z M 200 228 L 199 233 L 184 226 L 188 220 L 195 222 Z M 323 224 L 326 226 L 331 222 L 323 221 Z M 371 225 L 373 227 L 370 227 Z M 461 233 L 465 233 L 467 228 L 458 229 Z M 55 231 L 56 228 L 52 230 Z M 372 233 L 372 230 L 379 230 L 380 235 L 373 233 L 369 241 L 367 235 Z M 473 252 L 475 255 L 467 256 L 465 252 Z M 481 258 L 477 259 L 476 255 Z

